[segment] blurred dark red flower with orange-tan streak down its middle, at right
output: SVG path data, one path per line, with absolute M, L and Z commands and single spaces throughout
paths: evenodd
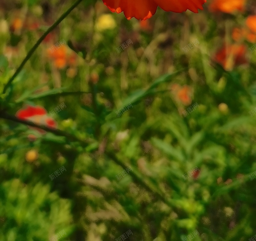
M 246 49 L 247 47 L 245 45 L 224 45 L 222 49 L 216 53 L 214 60 L 225 70 L 229 71 L 235 66 L 248 63 L 245 58 Z

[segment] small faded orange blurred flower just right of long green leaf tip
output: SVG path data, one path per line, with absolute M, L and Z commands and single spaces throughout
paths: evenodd
M 175 99 L 180 101 L 183 105 L 191 104 L 192 89 L 188 85 L 181 87 L 179 84 L 172 84 L 171 91 Z

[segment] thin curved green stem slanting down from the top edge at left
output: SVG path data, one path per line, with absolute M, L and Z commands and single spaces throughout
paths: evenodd
M 28 59 L 31 57 L 31 55 L 35 52 L 37 47 L 40 45 L 40 43 L 44 40 L 47 34 L 49 34 L 55 27 L 59 25 L 59 23 L 65 19 L 68 14 L 80 3 L 82 0 L 76 0 L 76 2 L 67 10 L 67 12 L 64 12 L 60 18 L 51 26 L 49 27 L 46 32 L 41 36 L 41 38 L 38 39 L 36 44 L 32 47 L 32 49 L 28 52 L 27 56 L 23 59 L 18 69 L 15 71 L 15 73 L 12 75 L 12 77 L 9 79 L 7 84 L 4 86 L 3 94 L 6 92 L 7 88 L 11 85 L 12 81 L 15 79 L 15 77 L 20 73 L 23 66 L 26 64 Z

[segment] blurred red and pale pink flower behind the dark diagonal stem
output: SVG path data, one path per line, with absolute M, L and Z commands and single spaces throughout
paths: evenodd
M 49 116 L 47 111 L 41 106 L 27 105 L 25 109 L 20 109 L 16 113 L 16 117 L 20 120 L 32 121 L 38 125 L 44 125 L 48 128 L 57 128 L 57 123 Z M 46 131 L 36 127 L 29 127 L 37 130 L 40 134 L 45 134 Z

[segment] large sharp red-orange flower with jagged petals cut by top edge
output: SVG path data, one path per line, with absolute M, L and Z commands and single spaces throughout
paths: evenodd
M 198 9 L 203 10 L 206 0 L 102 0 L 111 12 L 124 12 L 125 18 L 130 20 L 136 18 L 146 20 L 155 13 L 157 6 L 166 12 L 185 12 L 190 10 L 198 13 Z

